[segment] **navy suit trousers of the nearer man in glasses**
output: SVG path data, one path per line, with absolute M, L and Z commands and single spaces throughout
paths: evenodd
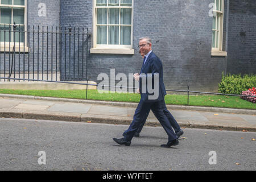
M 168 141 L 177 139 L 174 131 L 172 130 L 171 124 L 164 113 L 164 108 L 166 105 L 164 101 L 155 101 L 155 102 L 144 102 L 143 100 L 139 101 L 137 109 L 135 110 L 133 121 L 131 122 L 129 128 L 123 133 L 125 140 L 130 141 L 134 134 L 137 132 L 139 127 L 147 119 L 147 115 L 150 112 L 150 109 L 154 111 L 155 117 L 158 119 L 160 124 L 163 126 L 163 129 L 168 135 Z

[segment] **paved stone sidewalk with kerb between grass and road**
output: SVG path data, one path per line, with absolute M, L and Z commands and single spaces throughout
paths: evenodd
M 136 103 L 0 94 L 0 117 L 129 125 Z M 256 110 L 167 105 L 181 127 L 256 131 Z M 146 126 L 160 126 L 150 111 Z

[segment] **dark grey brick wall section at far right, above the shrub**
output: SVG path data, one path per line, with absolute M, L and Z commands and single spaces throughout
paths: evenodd
M 230 1 L 228 73 L 256 73 L 256 2 Z

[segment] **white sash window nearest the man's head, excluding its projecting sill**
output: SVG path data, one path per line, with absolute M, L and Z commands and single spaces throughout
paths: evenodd
M 93 48 L 132 48 L 133 0 L 94 0 L 93 22 Z

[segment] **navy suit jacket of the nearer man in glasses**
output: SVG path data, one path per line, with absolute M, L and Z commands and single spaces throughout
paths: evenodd
M 158 73 L 158 77 L 154 75 Z M 148 93 L 148 78 L 152 78 L 152 89 L 156 91 L 158 89 L 158 97 L 154 100 L 148 99 L 148 96 L 153 96 L 156 93 Z M 154 82 L 158 79 L 158 88 L 154 88 Z M 146 82 L 145 82 L 146 80 Z M 146 84 L 146 85 L 145 85 Z M 143 93 L 143 86 L 146 87 L 146 93 Z M 156 102 L 164 100 L 166 95 L 166 88 L 163 82 L 163 64 L 162 61 L 155 55 L 154 52 L 151 52 L 148 55 L 146 63 L 142 64 L 140 78 L 139 78 L 139 92 L 141 93 L 141 100 L 144 102 Z

